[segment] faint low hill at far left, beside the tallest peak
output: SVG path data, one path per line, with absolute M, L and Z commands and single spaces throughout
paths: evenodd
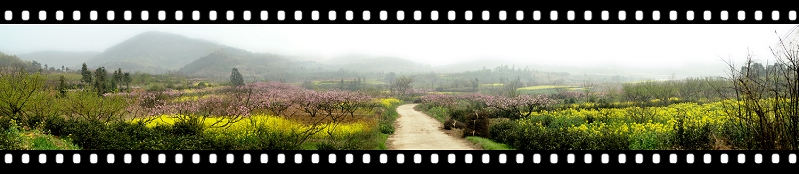
M 17 55 L 22 60 L 36 61 L 42 65 L 61 68 L 61 66 L 77 69 L 83 62 L 100 54 L 100 52 L 69 52 L 69 51 L 37 51 Z

